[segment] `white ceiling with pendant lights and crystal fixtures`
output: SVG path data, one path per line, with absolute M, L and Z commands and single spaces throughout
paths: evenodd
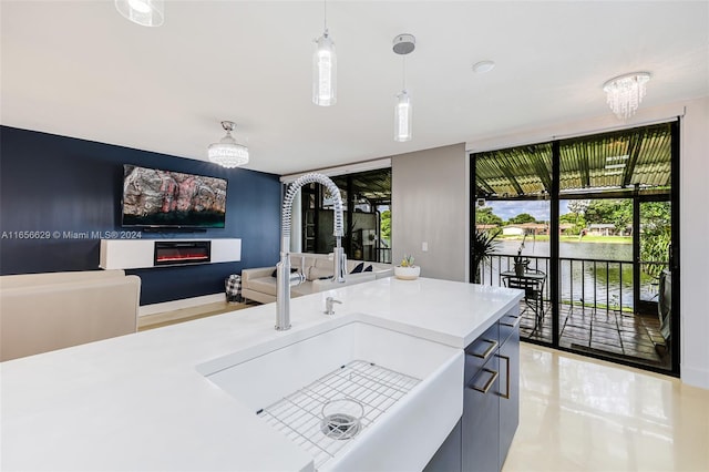
M 644 107 L 709 95 L 708 1 L 329 0 L 331 107 L 310 102 L 322 1 L 168 0 L 161 28 L 113 1 L 0 4 L 3 125 L 206 160 L 230 120 L 247 168 L 276 174 L 608 114 L 627 72 L 653 73 Z M 414 137 L 395 143 L 404 32 Z

